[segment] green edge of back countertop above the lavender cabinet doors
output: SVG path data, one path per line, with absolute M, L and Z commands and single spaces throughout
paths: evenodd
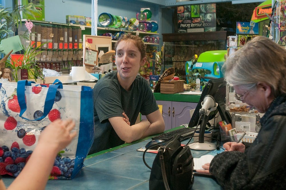
M 200 100 L 200 95 L 189 95 L 189 94 L 162 94 L 159 92 L 154 92 L 154 97 L 156 100 L 163 101 L 176 101 L 176 102 L 195 102 L 198 103 Z

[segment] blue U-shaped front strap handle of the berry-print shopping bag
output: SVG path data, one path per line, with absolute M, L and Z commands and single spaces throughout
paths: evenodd
M 35 83 L 35 82 L 33 82 Z M 45 99 L 45 104 L 44 104 L 44 110 L 43 110 L 43 115 L 37 119 L 31 120 L 23 117 L 23 113 L 27 110 L 27 105 L 25 101 L 25 86 L 31 86 L 31 82 L 28 82 L 27 80 L 20 80 L 18 81 L 17 84 L 17 96 L 18 96 L 18 102 L 20 106 L 20 114 L 19 116 L 21 118 L 24 118 L 26 120 L 34 121 L 34 120 L 41 120 L 47 116 L 49 111 L 53 107 L 53 103 L 55 102 L 55 94 L 57 92 L 58 88 L 63 88 L 62 83 L 59 81 L 58 84 L 51 84 L 49 85 L 49 89 L 47 92 L 47 96 Z

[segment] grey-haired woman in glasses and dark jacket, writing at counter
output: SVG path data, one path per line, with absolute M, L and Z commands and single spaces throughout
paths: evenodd
M 203 166 L 224 189 L 285 189 L 286 51 L 258 36 L 223 66 L 237 99 L 265 113 L 253 143 L 227 142 L 225 152 Z

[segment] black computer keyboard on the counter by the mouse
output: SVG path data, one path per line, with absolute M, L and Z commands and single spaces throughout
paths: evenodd
M 182 140 L 185 140 L 192 136 L 192 134 L 195 132 L 196 128 L 188 128 L 188 127 L 182 127 L 173 131 L 169 131 L 163 134 L 159 134 L 158 136 L 152 137 L 152 139 L 161 139 L 161 140 L 169 140 L 171 139 L 175 134 L 180 134 L 182 136 Z

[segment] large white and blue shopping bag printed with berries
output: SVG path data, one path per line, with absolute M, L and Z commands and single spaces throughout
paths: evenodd
M 72 118 L 77 136 L 58 153 L 49 179 L 72 179 L 84 166 L 94 139 L 92 89 L 55 83 L 0 83 L 0 175 L 17 177 L 41 131 L 57 118 Z

